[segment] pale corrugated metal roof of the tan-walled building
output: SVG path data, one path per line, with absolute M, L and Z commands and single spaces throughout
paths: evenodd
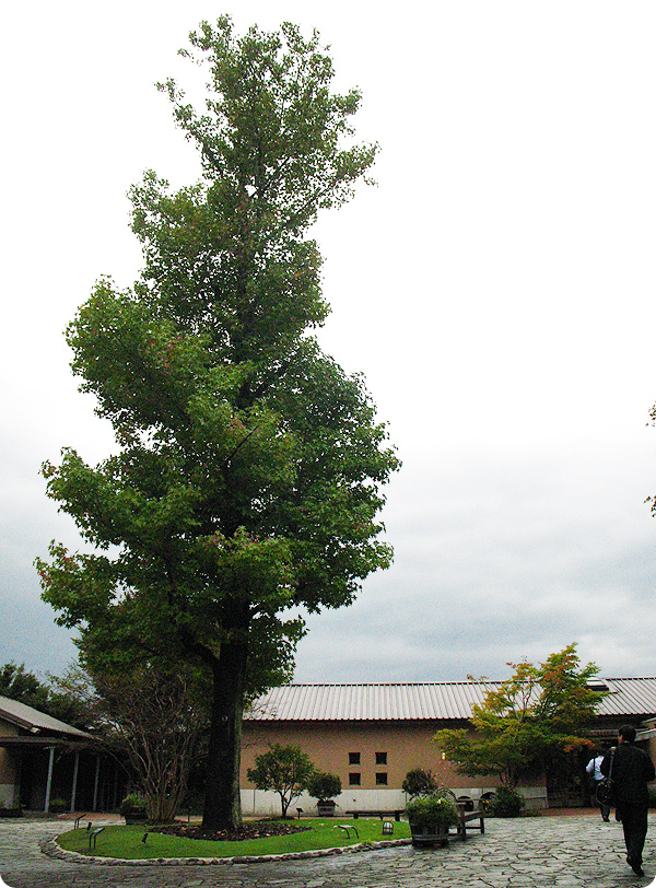
M 608 678 L 598 715 L 656 714 L 656 678 Z M 245 717 L 279 722 L 443 721 L 471 716 L 500 681 L 380 685 L 283 685 L 261 697 Z

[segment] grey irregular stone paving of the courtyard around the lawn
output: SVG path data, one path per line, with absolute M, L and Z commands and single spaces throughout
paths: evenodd
M 10 888 L 656 888 L 656 816 L 645 877 L 624 862 L 619 823 L 598 815 L 488 820 L 484 836 L 447 849 L 410 846 L 303 861 L 232 866 L 77 864 L 39 842 L 70 823 L 0 820 L 0 873 Z

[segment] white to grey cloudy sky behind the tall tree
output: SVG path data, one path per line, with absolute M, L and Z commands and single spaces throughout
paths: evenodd
M 222 12 L 317 27 L 364 94 L 378 187 L 321 219 L 323 343 L 365 373 L 403 468 L 394 566 L 311 621 L 301 681 L 504 677 L 577 641 L 655 675 L 656 7 L 604 0 L 81 0 L 2 21 L 0 663 L 62 669 L 32 562 L 70 522 L 43 459 L 110 446 L 62 330 L 129 284 L 129 185 L 196 161 L 153 83 Z

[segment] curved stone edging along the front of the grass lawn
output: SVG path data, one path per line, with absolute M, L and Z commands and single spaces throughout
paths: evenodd
M 234 866 L 238 863 L 271 863 L 274 861 L 301 861 L 312 857 L 330 857 L 336 854 L 349 854 L 358 851 L 377 851 L 380 848 L 396 848 L 411 844 L 412 839 L 388 839 L 383 842 L 359 842 L 355 845 L 341 848 L 320 848 L 315 851 L 292 851 L 286 854 L 260 854 L 245 857 L 148 857 L 141 861 L 124 861 L 120 857 L 96 857 L 68 851 L 57 844 L 56 839 L 42 842 L 40 850 L 48 857 L 78 864 L 96 864 L 98 866 Z

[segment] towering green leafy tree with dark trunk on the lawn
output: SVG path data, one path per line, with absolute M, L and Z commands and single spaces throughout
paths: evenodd
M 359 92 L 332 92 L 318 35 L 290 24 L 237 37 L 227 17 L 202 23 L 183 55 L 209 71 L 204 109 L 174 81 L 160 89 L 203 177 L 172 191 L 151 172 L 131 190 L 141 277 L 102 279 L 69 327 L 118 452 L 93 467 L 67 448 L 44 466 L 95 549 L 52 544 L 38 569 L 83 650 L 164 650 L 209 671 L 203 823 L 216 829 L 241 820 L 249 652 L 293 649 L 290 608 L 348 605 L 388 565 L 380 486 L 398 463 L 362 379 L 311 335 L 328 307 L 308 229 L 376 153 L 352 143 Z

